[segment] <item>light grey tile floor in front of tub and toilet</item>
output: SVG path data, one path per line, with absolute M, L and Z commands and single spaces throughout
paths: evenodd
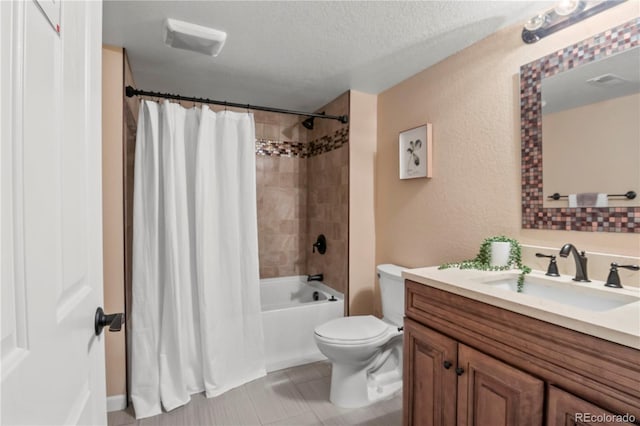
M 317 362 L 269 373 L 224 395 L 191 402 L 170 413 L 136 421 L 131 408 L 109 413 L 109 426 L 399 426 L 402 396 L 345 409 L 329 402 L 331 364 Z

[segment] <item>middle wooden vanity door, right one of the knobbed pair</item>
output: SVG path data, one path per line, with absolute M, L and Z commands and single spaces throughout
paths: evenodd
M 542 424 L 541 380 L 463 344 L 457 373 L 458 425 Z

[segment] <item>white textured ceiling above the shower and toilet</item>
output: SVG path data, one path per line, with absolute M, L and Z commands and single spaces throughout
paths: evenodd
M 380 93 L 551 2 L 105 1 L 103 42 L 140 89 L 298 110 Z M 227 32 L 215 58 L 167 47 L 165 18 Z

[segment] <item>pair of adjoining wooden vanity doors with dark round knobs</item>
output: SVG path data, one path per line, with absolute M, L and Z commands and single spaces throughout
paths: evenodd
M 541 380 L 410 319 L 404 330 L 405 425 L 542 424 Z

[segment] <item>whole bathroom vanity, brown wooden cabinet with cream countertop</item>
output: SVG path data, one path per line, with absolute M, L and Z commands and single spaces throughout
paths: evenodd
M 637 289 L 535 271 L 531 294 L 503 285 L 514 272 L 403 276 L 405 426 L 640 422 Z

